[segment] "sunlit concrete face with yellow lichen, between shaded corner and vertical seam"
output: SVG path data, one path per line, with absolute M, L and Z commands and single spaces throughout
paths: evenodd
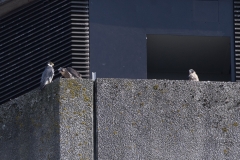
M 61 159 L 93 159 L 93 82 L 60 80 Z

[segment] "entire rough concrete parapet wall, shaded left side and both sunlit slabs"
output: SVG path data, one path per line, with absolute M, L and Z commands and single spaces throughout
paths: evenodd
M 95 91 L 57 79 L 1 105 L 0 159 L 239 160 L 239 83 L 97 79 Z

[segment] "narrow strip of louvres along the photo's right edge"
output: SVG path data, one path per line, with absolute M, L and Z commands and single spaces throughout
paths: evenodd
M 234 0 L 234 52 L 236 81 L 240 81 L 240 0 Z

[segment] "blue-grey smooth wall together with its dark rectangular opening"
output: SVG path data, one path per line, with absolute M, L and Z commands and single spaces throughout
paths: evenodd
M 90 0 L 89 6 L 91 71 L 98 77 L 187 79 L 193 68 L 200 80 L 235 81 L 233 1 Z

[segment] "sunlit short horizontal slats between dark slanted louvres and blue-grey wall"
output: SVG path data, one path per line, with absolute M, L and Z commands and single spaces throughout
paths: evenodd
M 71 3 L 72 67 L 89 78 L 89 8 L 88 0 Z

